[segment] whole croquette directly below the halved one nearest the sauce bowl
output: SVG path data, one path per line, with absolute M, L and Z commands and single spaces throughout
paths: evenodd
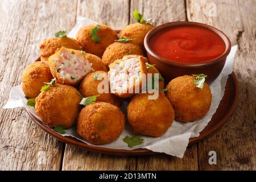
M 174 109 L 163 92 L 155 100 L 149 100 L 150 94 L 137 94 L 128 107 L 128 122 L 134 133 L 160 137 L 174 121 Z

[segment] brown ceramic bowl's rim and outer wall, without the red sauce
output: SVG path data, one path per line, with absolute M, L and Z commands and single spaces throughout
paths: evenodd
M 209 30 L 219 35 L 222 40 L 224 40 L 224 43 L 226 46 L 225 51 L 222 53 L 222 55 L 218 56 L 216 59 L 207 61 L 205 63 L 198 63 L 198 64 L 179 63 L 177 61 L 165 59 L 157 55 L 156 53 L 154 53 L 149 46 L 152 36 L 154 36 L 157 32 L 165 28 L 176 27 L 176 26 L 199 26 L 199 27 L 208 28 Z M 201 74 L 201 73 L 204 73 L 205 75 L 208 76 L 207 77 L 208 82 L 212 82 L 215 78 L 217 78 L 218 75 L 220 75 L 225 65 L 226 57 L 228 56 L 231 49 L 230 40 L 228 36 L 226 36 L 223 32 L 207 24 L 196 23 L 196 22 L 171 22 L 171 23 L 166 23 L 166 24 L 157 26 L 153 28 L 150 32 L 148 32 L 148 34 L 146 35 L 144 39 L 144 46 L 147 51 L 147 58 L 149 63 L 156 64 L 155 67 L 159 70 L 159 72 L 163 75 L 163 77 L 167 82 L 169 82 L 171 79 L 177 76 Z

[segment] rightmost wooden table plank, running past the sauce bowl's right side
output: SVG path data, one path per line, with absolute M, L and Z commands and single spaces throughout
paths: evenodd
M 216 5 L 216 16 L 209 16 Z M 234 72 L 240 94 L 237 109 L 228 122 L 199 143 L 200 170 L 255 170 L 255 1 L 187 1 L 188 20 L 212 24 L 238 44 Z M 211 13 L 210 13 L 211 14 Z M 217 152 L 217 165 L 209 165 L 208 152 Z

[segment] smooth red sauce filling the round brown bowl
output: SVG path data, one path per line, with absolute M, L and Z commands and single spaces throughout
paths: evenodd
M 225 43 L 215 32 L 196 26 L 170 27 L 156 33 L 150 48 L 157 55 L 181 63 L 204 63 L 225 51 Z

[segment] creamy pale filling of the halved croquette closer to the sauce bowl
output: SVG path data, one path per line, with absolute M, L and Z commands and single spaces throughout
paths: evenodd
M 110 89 L 112 93 L 127 93 L 129 88 L 138 85 L 141 78 L 141 63 L 138 57 L 131 57 L 115 63 L 110 69 Z M 132 89 L 131 89 L 132 90 Z

